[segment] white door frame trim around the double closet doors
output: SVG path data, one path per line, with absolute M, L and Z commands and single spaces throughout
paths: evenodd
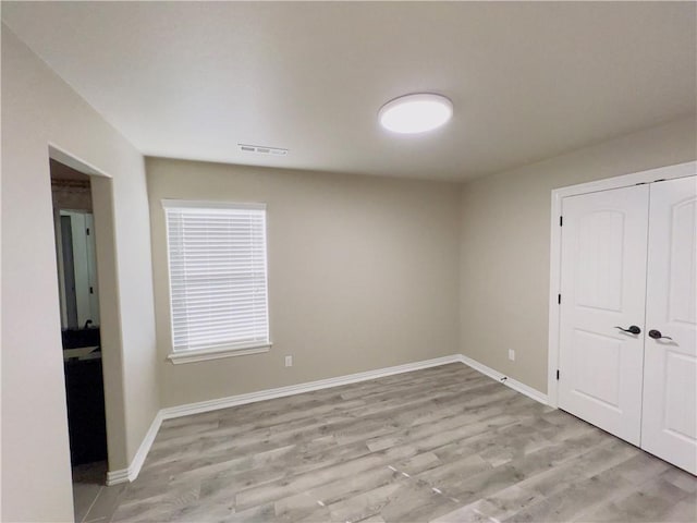
M 595 182 L 579 183 L 566 187 L 552 190 L 550 215 L 550 260 L 549 260 L 549 337 L 548 337 L 548 367 L 547 367 L 547 401 L 550 406 L 558 408 L 557 369 L 559 365 L 559 294 L 561 288 L 561 247 L 562 232 L 560 216 L 562 216 L 562 200 L 568 196 L 597 193 L 611 188 L 627 187 L 640 183 L 653 183 L 663 180 L 694 177 L 697 174 L 697 161 L 688 161 L 674 166 L 633 172 L 620 177 L 608 178 Z M 563 300 L 563 297 L 562 297 Z

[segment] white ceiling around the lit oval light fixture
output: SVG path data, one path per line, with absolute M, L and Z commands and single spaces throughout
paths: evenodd
M 3 1 L 2 20 L 146 155 L 463 180 L 695 113 L 695 8 Z M 415 92 L 453 120 L 382 131 Z

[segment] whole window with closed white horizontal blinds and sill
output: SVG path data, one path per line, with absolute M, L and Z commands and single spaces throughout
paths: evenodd
M 266 206 L 162 200 L 173 363 L 268 351 Z

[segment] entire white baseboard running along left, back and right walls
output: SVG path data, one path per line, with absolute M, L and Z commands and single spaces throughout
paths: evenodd
M 547 396 L 541 393 L 540 391 L 528 387 L 527 385 L 522 384 L 513 378 L 509 378 L 508 376 L 504 376 L 493 368 L 488 367 L 463 354 L 451 354 L 450 356 L 425 360 L 423 362 L 407 363 L 404 365 L 396 365 L 394 367 L 378 368 L 376 370 L 367 370 L 365 373 L 348 374 L 346 376 L 320 379 L 318 381 L 308 381 L 306 384 L 290 385 L 288 387 L 259 390 L 257 392 L 248 392 L 246 394 L 229 396 L 227 398 L 220 398 L 217 400 L 200 401 L 198 403 L 187 403 L 184 405 L 162 409 L 157 413 L 155 419 L 152 419 L 152 424 L 145 435 L 140 447 L 135 454 L 135 458 L 133 458 L 133 461 L 131 462 L 131 465 L 127 469 L 121 469 L 107 473 L 107 485 L 118 485 L 120 483 L 133 482 L 138 476 L 140 467 L 145 462 L 145 458 L 147 457 L 147 453 L 152 446 L 152 441 L 155 441 L 157 431 L 159 430 L 160 425 L 164 419 L 188 416 L 191 414 L 200 414 L 203 412 L 217 411 L 219 409 L 228 409 L 230 406 L 244 405 L 246 403 L 254 403 L 257 401 L 272 400 L 274 398 L 302 394 L 303 392 L 310 392 L 313 390 L 357 384 L 359 381 L 382 378 L 384 376 L 392 376 L 394 374 L 411 373 L 413 370 L 437 367 L 440 365 L 447 365 L 449 363 L 464 363 L 465 365 L 468 365 L 475 370 L 478 370 L 481 374 L 496 379 L 506 387 L 510 387 L 513 390 L 516 390 L 517 392 L 521 392 L 522 394 L 534 399 L 535 401 L 547 404 Z

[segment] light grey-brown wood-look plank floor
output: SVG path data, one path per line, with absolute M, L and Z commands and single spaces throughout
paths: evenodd
M 100 521 L 697 519 L 695 476 L 462 364 L 164 422 L 120 488 Z

